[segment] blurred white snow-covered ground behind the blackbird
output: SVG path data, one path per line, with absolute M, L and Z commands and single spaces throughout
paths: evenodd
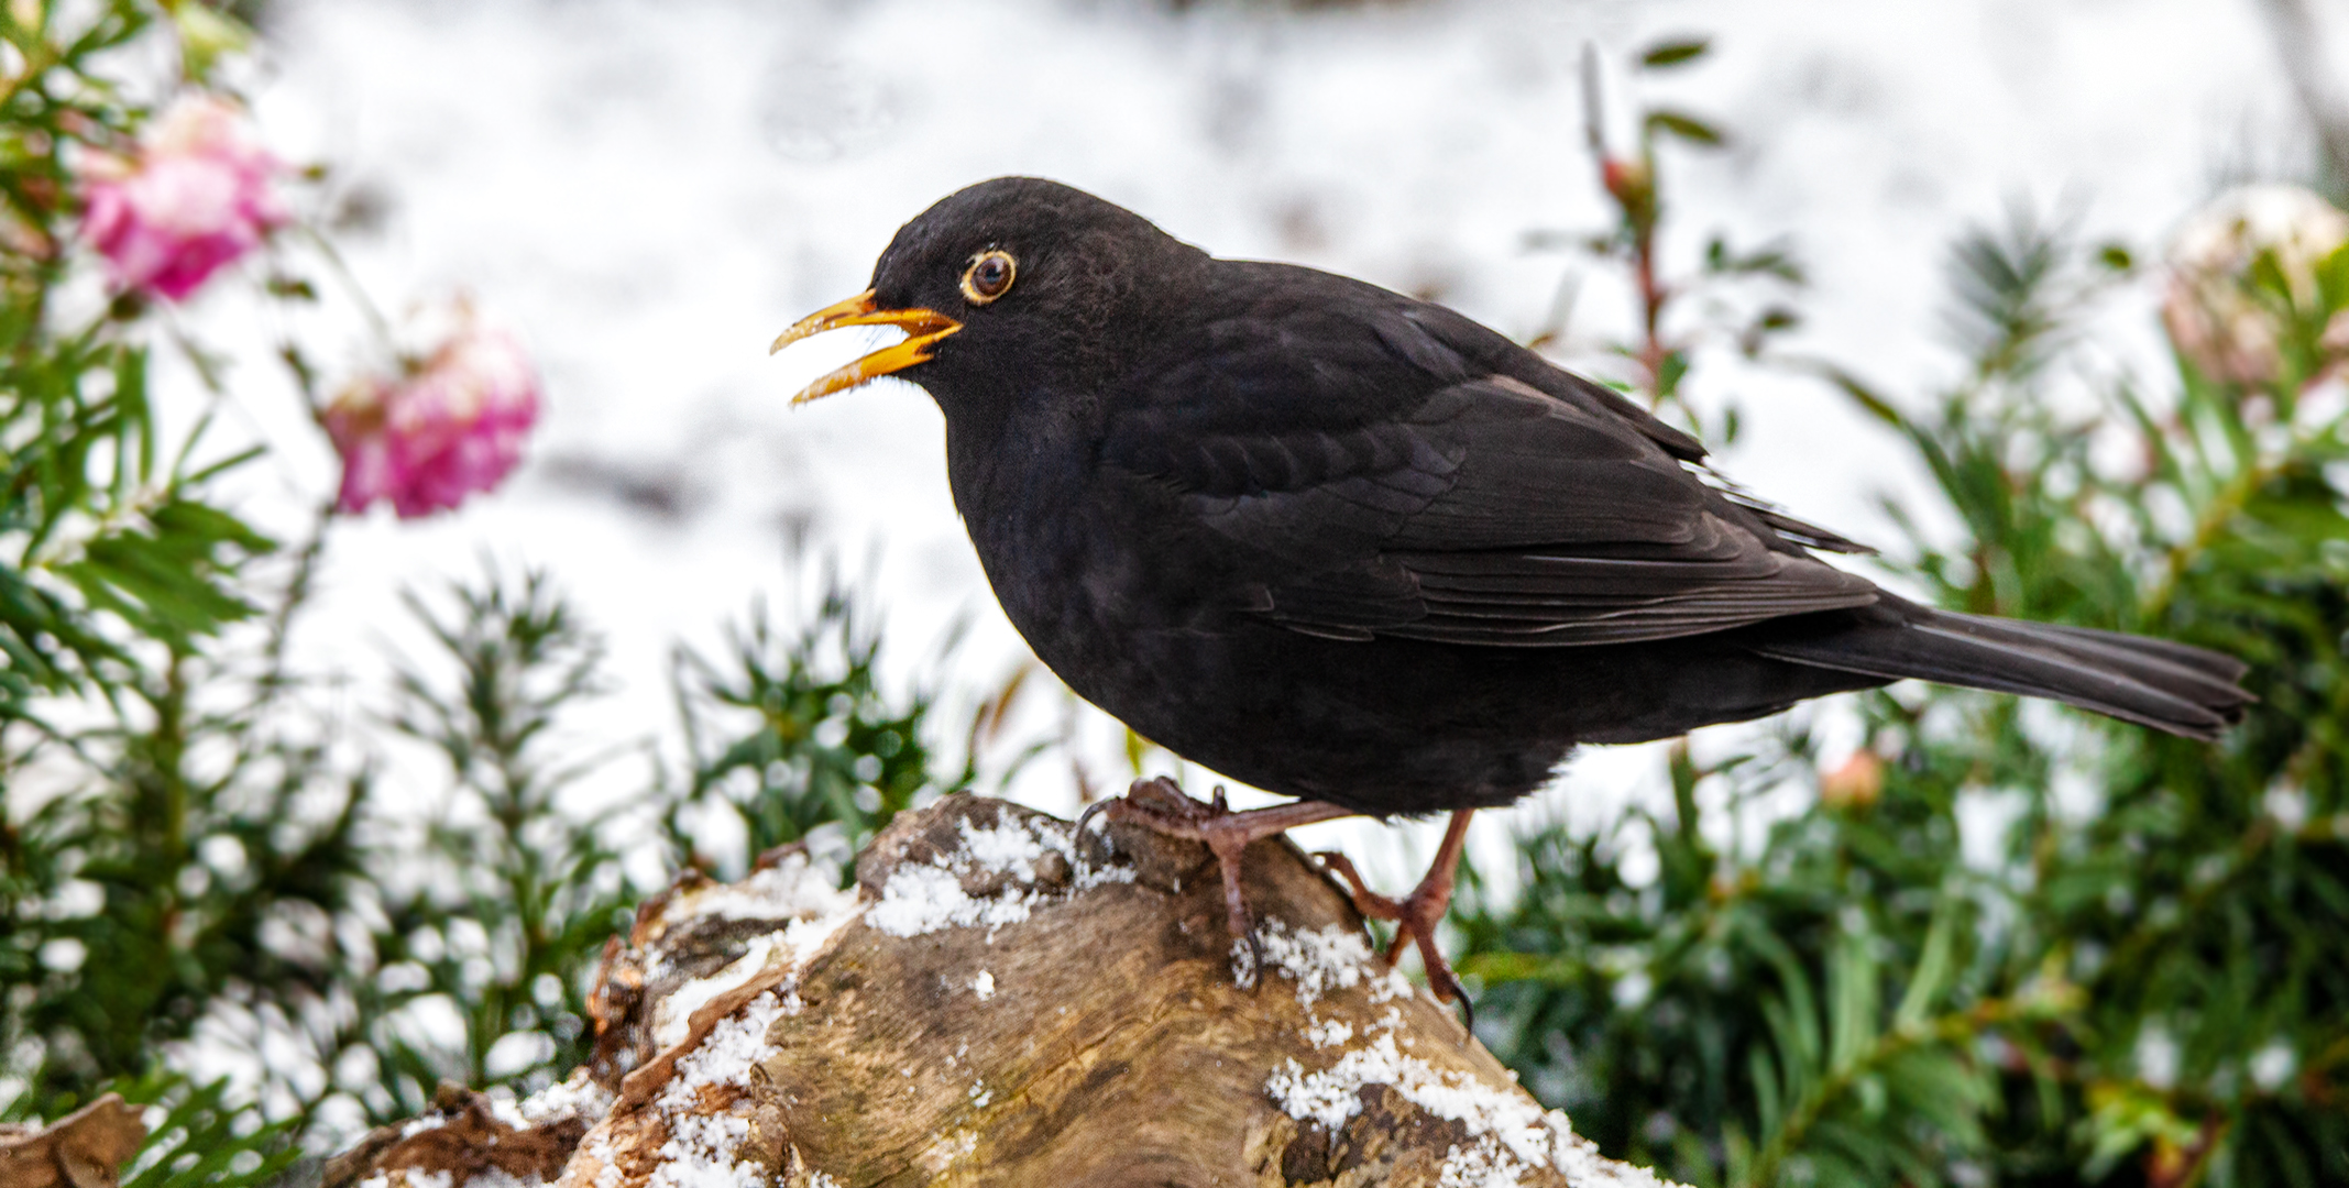
M 2227 181 L 2300 171 L 2307 127 L 2267 16 L 2255 0 L 282 0 L 256 113 L 280 153 L 329 167 L 317 197 L 355 221 L 352 270 L 395 319 L 404 301 L 470 291 L 531 343 L 550 394 L 498 495 L 418 524 L 378 509 L 334 535 L 296 655 L 381 688 L 371 674 L 416 650 L 404 585 L 474 575 L 484 556 L 545 566 L 618 679 L 578 718 L 583 744 L 625 744 L 667 730 L 677 641 L 714 646 L 756 596 L 787 610 L 839 556 L 850 573 L 869 561 L 897 671 L 968 617 L 949 679 L 963 695 L 996 686 L 1027 648 L 954 517 L 937 411 L 895 380 L 792 411 L 794 390 L 864 343 L 768 359 L 775 331 L 860 291 L 933 200 L 1043 174 L 1217 254 L 1433 293 L 1527 336 L 1571 261 L 1525 235 L 1604 223 L 1581 148 L 1586 45 L 1626 61 L 1658 38 L 1712 38 L 1694 68 L 1614 80 L 1731 136 L 1722 153 L 1665 150 L 1670 251 L 1694 258 L 1712 230 L 1785 237 L 1813 282 L 1790 350 L 1914 397 L 1957 376 L 1940 265 L 1968 223 L 2027 202 L 2159 249 Z M 2349 14 L 2323 19 L 2340 31 L 2328 45 L 2349 47 Z M 1626 308 L 1595 275 L 1576 329 L 1616 333 Z M 190 317 L 207 336 L 251 333 L 228 303 Z M 2128 317 L 2154 350 L 2149 301 Z M 364 340 L 327 364 L 369 364 Z M 242 500 L 298 535 L 334 458 L 289 390 L 251 380 L 233 418 L 277 448 Z M 1717 362 L 1694 390 L 1743 399 L 1722 470 L 1809 519 L 1884 540 L 1875 493 L 1921 488 L 1823 385 Z M 1092 723 L 1088 740 L 1111 775 L 1113 733 Z M 1658 763 L 1590 754 L 1550 810 L 1600 819 L 1661 794 Z M 622 763 L 604 779 L 641 777 Z M 1059 768 L 1017 791 L 1073 808 Z M 1485 815 L 1480 850 L 1532 819 Z M 1407 883 L 1377 826 L 1315 829 L 1308 843 Z

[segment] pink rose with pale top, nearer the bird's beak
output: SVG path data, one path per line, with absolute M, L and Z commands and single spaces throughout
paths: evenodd
M 322 420 L 343 455 L 343 512 L 390 500 L 402 519 L 428 517 L 514 470 L 538 420 L 538 371 L 512 336 L 467 319 L 406 376 L 345 387 Z

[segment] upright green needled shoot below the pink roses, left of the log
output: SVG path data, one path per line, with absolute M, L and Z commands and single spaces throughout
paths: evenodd
M 437 751 L 449 789 L 385 805 L 395 833 L 369 855 L 383 967 L 352 981 L 364 1045 L 345 1052 L 366 1073 L 345 1080 L 378 1120 L 420 1113 L 442 1080 L 536 1089 L 585 1064 L 594 963 L 646 892 L 606 838 L 613 810 L 561 796 L 601 756 L 561 758 L 559 716 L 604 681 L 552 582 L 489 571 L 446 610 L 406 601 L 437 653 L 402 667 L 392 725 Z M 404 1026 L 425 1000 L 463 1019 L 460 1045 Z

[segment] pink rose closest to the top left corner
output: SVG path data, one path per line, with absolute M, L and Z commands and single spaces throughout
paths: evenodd
M 244 136 L 237 108 L 186 94 L 129 157 L 92 153 L 75 164 L 82 237 L 106 256 L 117 286 L 181 301 L 284 225 L 270 188 L 282 171 Z

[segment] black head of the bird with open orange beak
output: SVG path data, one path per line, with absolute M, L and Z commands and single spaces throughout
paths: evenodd
M 947 418 L 1036 392 L 1085 392 L 1163 310 L 1179 308 L 1207 256 L 1139 214 L 1043 178 L 994 178 L 947 195 L 897 230 L 871 289 L 808 315 L 775 340 L 839 326 L 900 326 L 813 385 L 827 397 L 888 373 L 923 385 Z

